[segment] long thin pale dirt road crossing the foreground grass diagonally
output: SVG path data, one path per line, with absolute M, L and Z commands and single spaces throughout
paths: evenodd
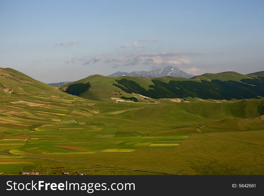
M 128 170 L 135 170 L 135 171 L 141 171 L 141 172 L 151 172 L 151 173 L 158 173 L 158 174 L 181 175 L 181 174 L 173 174 L 173 173 L 168 173 L 168 172 L 157 172 L 157 171 L 144 170 L 144 169 L 134 169 L 134 168 L 126 168 L 126 167 L 108 166 L 108 165 L 101 165 L 101 164 L 95 164 L 95 163 L 82 163 L 82 162 L 76 162 L 76 161 L 56 160 L 56 159 L 47 159 L 47 158 L 39 158 L 39 157 L 28 157 L 28 156 L 12 155 L 12 154 L 1 154 L 1 155 L 8 155 L 8 156 L 14 156 L 14 157 L 26 157 L 26 158 L 51 160 L 51 161 L 61 161 L 61 162 L 67 162 L 67 163 L 79 163 L 79 164 L 86 164 L 86 165 L 103 166 L 103 167 L 111 167 L 111 168 L 118 168 L 118 169 L 128 169 Z

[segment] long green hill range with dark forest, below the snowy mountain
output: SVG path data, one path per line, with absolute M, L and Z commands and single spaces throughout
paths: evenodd
M 110 101 L 114 98 L 131 97 L 141 94 L 154 99 L 176 99 L 198 97 L 201 99 L 248 99 L 264 97 L 264 79 L 254 79 L 236 72 L 205 73 L 191 79 L 181 77 L 133 77 L 133 76 L 101 76 L 87 78 L 64 84 L 60 89 L 77 83 L 90 82 L 91 87 L 79 97 Z M 112 99 L 111 99 L 112 98 Z M 137 97 L 139 101 L 151 101 Z

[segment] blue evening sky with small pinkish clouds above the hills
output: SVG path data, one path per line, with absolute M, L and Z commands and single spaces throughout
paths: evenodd
M 92 74 L 264 70 L 264 1 L 0 1 L 0 67 Z

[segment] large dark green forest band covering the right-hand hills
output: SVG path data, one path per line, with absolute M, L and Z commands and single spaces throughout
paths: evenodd
M 141 87 L 132 80 L 116 80 L 119 85 L 113 84 L 127 93 L 137 93 L 147 97 L 161 98 L 184 98 L 199 97 L 201 99 L 259 99 L 264 97 L 264 77 L 254 79 L 242 79 L 237 81 L 201 80 L 196 81 L 175 81 L 169 83 L 160 80 L 152 80 L 154 85 L 149 89 Z

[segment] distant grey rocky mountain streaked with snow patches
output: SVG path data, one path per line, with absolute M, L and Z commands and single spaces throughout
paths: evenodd
M 191 78 L 194 75 L 186 73 L 179 70 L 171 65 L 161 68 L 153 69 L 151 71 L 133 71 L 131 73 L 118 71 L 109 76 L 139 76 L 139 77 L 164 77 L 164 76 L 173 76 L 173 77 L 182 77 L 182 78 Z

